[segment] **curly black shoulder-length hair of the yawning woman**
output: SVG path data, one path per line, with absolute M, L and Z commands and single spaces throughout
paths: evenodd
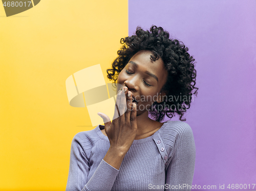
M 190 107 L 190 98 L 193 94 L 197 96 L 198 90 L 195 87 L 197 76 L 195 59 L 188 54 L 188 48 L 183 42 L 169 38 L 169 33 L 162 27 L 152 26 L 150 31 L 144 31 L 138 26 L 135 34 L 131 37 L 121 38 L 120 43 L 123 45 L 117 52 L 118 57 L 112 63 L 112 69 L 106 70 L 108 78 L 116 83 L 121 70 L 137 52 L 150 50 L 152 52 L 150 59 L 156 61 L 159 57 L 162 58 L 165 69 L 168 71 L 167 81 L 161 92 L 165 92 L 167 98 L 172 96 L 176 99 L 165 99 L 161 103 L 154 102 L 148 111 L 149 114 L 157 122 L 162 121 L 164 115 L 172 118 L 175 113 L 180 115 L 180 121 L 186 121 L 182 116 Z M 183 99 L 181 99 L 181 95 Z M 160 105 L 162 107 L 159 107 Z M 175 109 L 171 109 L 173 105 L 175 105 Z M 159 108 L 162 109 L 159 110 Z

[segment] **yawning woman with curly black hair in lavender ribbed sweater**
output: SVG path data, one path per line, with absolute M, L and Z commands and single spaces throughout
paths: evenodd
M 198 90 L 195 59 L 161 27 L 121 43 L 107 70 L 123 86 L 114 120 L 98 113 L 104 126 L 75 135 L 66 190 L 190 190 L 196 151 L 182 117 Z M 180 121 L 160 122 L 175 113 Z

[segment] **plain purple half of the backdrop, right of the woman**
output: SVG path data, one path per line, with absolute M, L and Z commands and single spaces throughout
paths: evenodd
M 256 2 L 129 0 L 129 35 L 163 27 L 197 61 L 185 115 L 196 142 L 193 185 L 256 184 Z M 177 120 L 177 118 L 176 118 Z M 202 187 L 201 187 L 202 188 Z M 194 189 L 195 190 L 195 189 Z M 240 189 L 236 189 L 240 190 Z M 253 190 L 256 190 L 256 186 Z

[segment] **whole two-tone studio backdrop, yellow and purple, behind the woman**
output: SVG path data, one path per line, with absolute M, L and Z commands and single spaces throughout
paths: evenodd
M 108 83 L 120 38 L 152 25 L 197 61 L 198 97 L 185 115 L 193 185 L 256 190 L 254 0 L 54 0 L 8 17 L 0 6 L 0 190 L 65 190 L 71 140 L 95 128 L 87 108 L 69 105 L 66 79 L 100 64 Z

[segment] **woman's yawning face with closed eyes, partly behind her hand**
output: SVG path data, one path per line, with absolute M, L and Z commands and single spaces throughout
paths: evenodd
M 136 53 L 117 78 L 118 84 L 126 86 L 133 93 L 133 98 L 137 101 L 137 115 L 147 112 L 157 101 L 168 76 L 163 60 L 159 58 L 152 61 L 151 55 L 148 50 Z M 163 95 L 161 92 L 161 96 Z

